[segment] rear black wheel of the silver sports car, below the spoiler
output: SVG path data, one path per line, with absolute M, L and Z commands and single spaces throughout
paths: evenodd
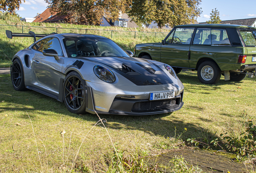
M 12 68 L 10 71 L 10 76 L 12 80 L 12 86 L 17 91 L 25 91 L 25 81 L 24 81 L 24 73 L 23 73 L 23 66 L 21 61 L 16 58 L 12 62 Z

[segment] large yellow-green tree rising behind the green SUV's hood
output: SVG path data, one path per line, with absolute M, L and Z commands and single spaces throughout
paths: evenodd
M 173 27 L 189 24 L 202 13 L 201 0 L 133 0 L 129 16 L 136 22 L 150 24 L 155 21 L 159 28 L 165 24 Z

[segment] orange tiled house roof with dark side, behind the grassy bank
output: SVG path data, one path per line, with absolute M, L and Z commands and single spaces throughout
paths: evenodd
M 57 16 L 57 12 L 51 12 L 51 8 L 47 8 L 39 14 L 33 22 L 58 22 L 64 20 L 68 15 Z

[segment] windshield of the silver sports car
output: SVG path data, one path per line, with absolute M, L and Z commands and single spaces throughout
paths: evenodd
M 68 57 L 124 56 L 130 57 L 115 42 L 107 38 L 76 37 L 65 38 L 64 45 Z

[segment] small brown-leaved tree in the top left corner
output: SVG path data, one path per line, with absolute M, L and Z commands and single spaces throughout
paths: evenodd
M 15 14 L 15 10 L 16 8 L 19 10 L 20 4 L 21 0 L 0 0 L 0 10 Z

